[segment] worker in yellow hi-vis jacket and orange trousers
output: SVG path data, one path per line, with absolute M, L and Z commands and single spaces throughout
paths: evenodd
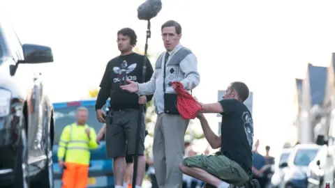
M 61 138 L 57 157 L 64 169 L 62 188 L 85 188 L 89 176 L 90 149 L 98 147 L 96 132 L 86 124 L 89 111 L 77 109 L 77 122 L 67 125 Z

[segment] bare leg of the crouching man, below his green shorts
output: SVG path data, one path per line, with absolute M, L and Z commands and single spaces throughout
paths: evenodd
M 204 171 L 199 168 L 193 168 L 193 167 L 184 166 L 183 164 L 179 164 L 179 169 L 186 175 L 190 175 L 193 178 L 197 178 L 198 180 L 202 180 L 216 187 L 218 187 L 219 185 L 223 183 L 222 180 L 216 178 L 214 175 L 211 175 L 207 171 Z

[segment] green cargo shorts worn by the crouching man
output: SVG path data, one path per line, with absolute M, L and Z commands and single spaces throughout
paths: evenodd
M 246 171 L 225 155 L 195 155 L 185 158 L 184 165 L 203 169 L 224 182 L 238 187 L 243 186 L 249 180 Z

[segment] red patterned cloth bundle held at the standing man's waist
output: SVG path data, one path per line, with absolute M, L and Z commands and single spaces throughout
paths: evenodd
M 194 119 L 201 109 L 201 105 L 197 102 L 179 81 L 173 81 L 172 87 L 177 93 L 177 109 L 180 116 L 184 119 Z

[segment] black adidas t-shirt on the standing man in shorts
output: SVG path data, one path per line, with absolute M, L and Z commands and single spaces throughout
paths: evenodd
M 124 63 L 126 61 L 126 63 Z M 96 101 L 96 109 L 101 109 L 105 101 L 110 97 L 110 108 L 132 109 L 138 107 L 138 95 L 130 93 L 120 88 L 120 82 L 126 78 L 138 83 L 147 82 L 154 73 L 152 65 L 147 59 L 147 72 L 145 80 L 142 81 L 144 56 L 136 53 L 126 56 L 117 56 L 107 63 L 105 74 L 100 84 L 100 91 Z M 147 95 L 147 101 L 151 100 L 153 95 Z

